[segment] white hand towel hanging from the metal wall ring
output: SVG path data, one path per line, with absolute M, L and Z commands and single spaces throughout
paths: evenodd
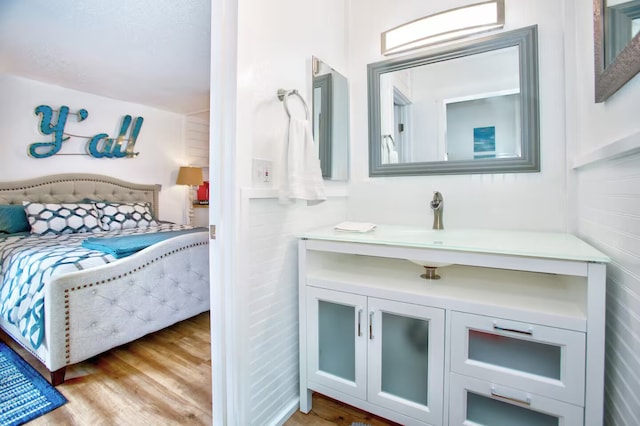
M 284 152 L 285 173 L 280 186 L 280 202 L 289 203 L 299 199 L 314 205 L 326 200 L 318 148 L 313 142 L 307 120 L 289 119 Z

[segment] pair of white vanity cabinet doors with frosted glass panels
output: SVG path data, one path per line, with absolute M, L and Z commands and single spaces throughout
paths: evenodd
M 443 309 L 310 286 L 306 321 L 309 387 L 441 423 Z

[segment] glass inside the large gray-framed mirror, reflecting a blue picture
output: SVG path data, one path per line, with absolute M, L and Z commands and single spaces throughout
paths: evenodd
M 380 76 L 382 164 L 520 157 L 518 47 Z

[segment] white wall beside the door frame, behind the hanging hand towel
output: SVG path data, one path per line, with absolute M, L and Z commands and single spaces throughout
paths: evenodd
M 238 3 L 235 149 L 243 189 L 230 308 L 237 324 L 231 367 L 238 376 L 238 389 L 231 390 L 237 395 L 236 424 L 271 424 L 298 406 L 296 234 L 344 220 L 346 204 L 334 198 L 313 207 L 283 206 L 274 198 L 251 198 L 251 164 L 254 157 L 272 160 L 277 187 L 288 126 L 277 91 L 298 89 L 311 107 L 312 56 L 348 77 L 346 22 L 344 0 Z M 304 114 L 296 98 L 289 108 Z

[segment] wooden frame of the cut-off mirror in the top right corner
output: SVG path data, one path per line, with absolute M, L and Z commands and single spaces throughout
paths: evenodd
M 627 44 L 611 64 L 604 66 L 605 0 L 593 0 L 595 101 L 604 102 L 640 72 L 640 34 Z

